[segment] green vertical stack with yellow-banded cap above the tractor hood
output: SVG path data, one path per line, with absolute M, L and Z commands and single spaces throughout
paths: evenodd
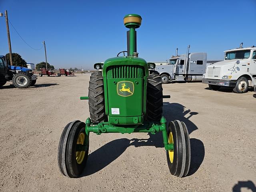
M 132 56 L 137 52 L 136 28 L 141 25 L 142 17 L 137 14 L 128 14 L 124 16 L 124 25 L 130 30 L 127 32 L 127 55 Z

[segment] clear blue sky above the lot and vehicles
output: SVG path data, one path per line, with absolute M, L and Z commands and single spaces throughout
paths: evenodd
M 142 16 L 137 51 L 146 61 L 175 54 L 207 52 L 208 60 L 224 58 L 224 50 L 240 42 L 256 46 L 256 0 L 0 0 L 10 22 L 33 48 L 46 42 L 47 58 L 59 67 L 93 68 L 126 50 L 123 17 Z M 8 53 L 6 24 L 0 17 L 0 54 Z M 26 62 L 44 61 L 44 49 L 27 46 L 10 26 L 12 52 Z

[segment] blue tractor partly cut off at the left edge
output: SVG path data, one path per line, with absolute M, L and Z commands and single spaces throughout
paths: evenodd
M 5 56 L 0 55 L 0 87 L 7 81 L 17 88 L 28 88 L 36 83 L 37 76 L 32 70 L 19 66 L 8 66 Z

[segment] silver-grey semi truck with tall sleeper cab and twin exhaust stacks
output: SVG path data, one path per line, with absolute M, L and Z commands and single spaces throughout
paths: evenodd
M 166 65 L 156 66 L 155 70 L 160 74 L 162 84 L 169 81 L 202 81 L 202 75 L 206 70 L 207 54 L 204 52 L 187 53 L 178 55 L 178 48 L 175 56 L 169 59 Z

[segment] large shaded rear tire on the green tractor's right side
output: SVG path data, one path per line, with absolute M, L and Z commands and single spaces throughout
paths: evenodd
M 159 122 L 163 112 L 163 88 L 161 76 L 152 73 L 148 76 L 146 121 Z

